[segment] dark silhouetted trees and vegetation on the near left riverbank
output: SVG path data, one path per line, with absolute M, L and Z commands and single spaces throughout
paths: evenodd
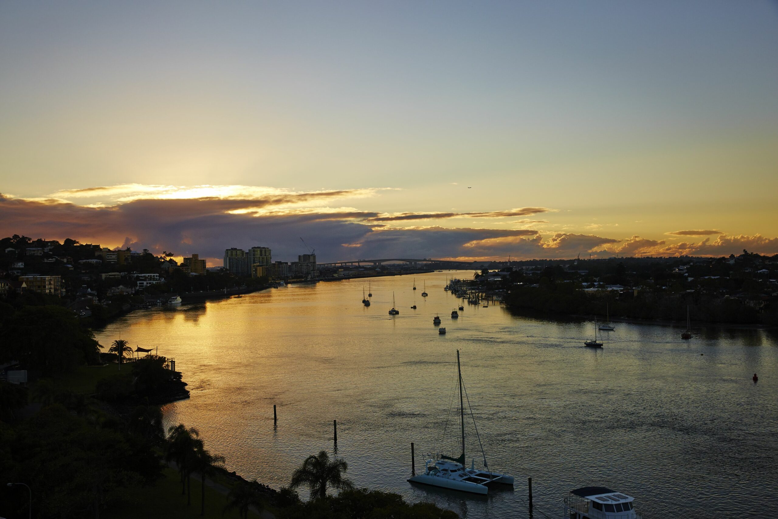
M 159 404 L 186 398 L 181 374 L 125 340 L 100 345 L 72 312 L 37 298 L 0 302 L 0 517 L 260 517 L 451 519 L 429 503 L 355 489 L 348 465 L 321 451 L 289 487 L 271 489 L 224 468 L 183 424 L 163 430 Z M 5 483 L 25 486 L 6 486 Z M 310 490 L 302 502 L 294 489 Z M 328 492 L 339 491 L 337 496 Z

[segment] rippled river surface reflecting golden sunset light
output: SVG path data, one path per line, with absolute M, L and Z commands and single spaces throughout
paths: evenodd
M 643 517 L 778 514 L 778 338 L 769 331 L 617 324 L 605 348 L 590 321 L 464 305 L 449 275 L 299 284 L 228 300 L 142 310 L 100 331 L 176 359 L 191 399 L 166 419 L 195 426 L 227 466 L 271 486 L 309 454 L 333 447 L 358 486 L 431 500 L 462 517 L 562 517 L 561 496 L 602 485 L 636 499 Z M 429 296 L 421 296 L 423 282 Z M 391 317 L 392 293 L 401 314 Z M 411 310 L 415 303 L 417 310 Z M 440 313 L 447 335 L 438 335 Z M 606 332 L 608 333 L 608 332 Z M 422 454 L 457 451 L 456 350 L 478 432 L 513 491 L 473 497 L 412 486 Z M 759 383 L 751 380 L 759 373 Z M 273 426 L 273 405 L 278 426 Z M 467 426 L 468 465 L 481 464 Z

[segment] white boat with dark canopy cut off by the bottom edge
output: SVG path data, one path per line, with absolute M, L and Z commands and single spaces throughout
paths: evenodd
M 640 519 L 634 498 L 605 486 L 584 486 L 565 497 L 565 519 Z

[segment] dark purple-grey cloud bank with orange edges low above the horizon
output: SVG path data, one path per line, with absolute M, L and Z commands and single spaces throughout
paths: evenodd
M 317 195 L 300 199 L 327 198 Z M 440 226 L 397 228 L 396 220 L 422 219 L 419 213 L 381 215 L 376 212 L 326 212 L 321 209 L 278 209 L 288 197 L 257 200 L 224 198 L 142 199 L 110 207 L 85 207 L 61 200 L 33 201 L 0 195 L 0 233 L 64 239 L 83 243 L 123 244 L 134 249 L 173 251 L 221 258 L 226 247 L 271 247 L 275 258 L 289 261 L 303 254 L 299 237 L 315 247 L 320 261 L 356 258 L 572 258 L 578 253 L 608 256 L 737 253 L 775 254 L 778 238 L 720 235 L 699 243 L 666 244 L 664 240 L 631 237 L 613 240 L 590 234 L 556 233 L 541 236 L 537 230 L 450 229 Z M 245 213 L 230 213 L 243 211 Z M 424 219 L 454 216 L 497 218 L 528 216 L 545 208 L 520 208 L 482 213 L 424 213 Z M 691 233 L 692 231 L 683 231 Z M 693 231 L 713 233 L 714 231 Z M 717 231 L 715 231 L 718 233 Z M 681 232 L 675 232 L 678 235 Z M 686 234 L 685 234 L 686 235 Z M 689 234 L 691 235 L 691 234 Z

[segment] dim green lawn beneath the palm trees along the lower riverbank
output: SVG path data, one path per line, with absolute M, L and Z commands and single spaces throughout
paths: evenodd
M 138 517 L 159 517 L 160 519 L 184 519 L 184 517 L 203 517 L 200 515 L 200 482 L 192 479 L 192 503 L 187 507 L 187 496 L 181 495 L 181 483 L 178 472 L 166 468 L 164 477 L 155 486 L 133 489 L 130 494 L 132 504 L 122 510 L 106 510 L 105 517 L 115 519 L 137 519 Z M 205 487 L 205 517 L 216 519 L 240 519 L 237 510 L 222 514 L 227 498 L 216 490 Z M 249 512 L 249 517 L 259 517 Z

